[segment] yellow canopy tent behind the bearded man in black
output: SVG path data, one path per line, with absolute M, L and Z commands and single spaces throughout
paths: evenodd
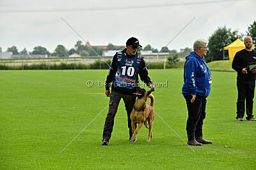
M 228 50 L 228 56 L 230 60 L 233 60 L 236 53 L 239 52 L 240 50 L 243 50 L 245 48 L 244 42 L 241 41 L 239 38 L 236 39 L 233 43 L 231 43 L 228 46 L 224 46 L 224 50 Z M 254 46 L 252 46 L 254 48 Z

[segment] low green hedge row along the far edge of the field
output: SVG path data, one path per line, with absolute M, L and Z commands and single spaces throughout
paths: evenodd
M 106 62 L 108 64 L 106 64 Z M 74 64 L 74 63 L 65 63 L 61 62 L 60 64 L 48 64 L 47 62 L 42 62 L 41 64 L 24 64 L 19 66 L 8 66 L 5 64 L 0 64 L 0 69 L 109 69 L 109 65 L 111 64 L 111 60 L 104 61 L 95 61 L 92 64 Z M 146 64 L 147 65 L 147 64 Z M 175 62 L 172 66 L 172 63 L 166 62 L 166 68 L 179 68 L 183 67 L 184 62 Z M 163 69 L 164 62 L 151 62 L 148 66 L 149 69 Z

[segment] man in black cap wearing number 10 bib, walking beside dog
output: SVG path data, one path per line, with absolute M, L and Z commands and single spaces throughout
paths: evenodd
M 112 60 L 106 80 L 106 96 L 110 96 L 109 111 L 105 120 L 102 135 L 102 144 L 108 145 L 111 133 L 113 131 L 114 118 L 121 98 L 124 100 L 125 110 L 127 111 L 128 127 L 130 141 L 132 137 L 132 127 L 130 114 L 134 106 L 136 97 L 136 87 L 138 86 L 138 75 L 140 79 L 152 90 L 154 85 L 148 77 L 148 71 L 143 57 L 137 53 L 141 45 L 137 38 L 129 38 L 126 42 L 126 48 L 117 52 Z M 111 85 L 112 83 L 112 85 Z M 111 93 L 109 87 L 111 85 Z

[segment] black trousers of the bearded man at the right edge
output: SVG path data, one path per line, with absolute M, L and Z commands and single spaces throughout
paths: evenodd
M 246 100 L 246 119 L 253 117 L 252 108 L 253 108 L 253 97 L 255 89 L 255 80 L 239 80 L 237 79 L 237 117 L 244 117 L 244 101 Z

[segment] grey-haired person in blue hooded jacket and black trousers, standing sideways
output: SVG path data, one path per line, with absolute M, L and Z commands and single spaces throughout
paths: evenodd
M 188 145 L 202 146 L 212 144 L 203 138 L 202 127 L 205 118 L 206 97 L 211 91 L 211 70 L 204 56 L 207 53 L 207 41 L 198 39 L 193 45 L 194 51 L 186 57 L 184 64 L 184 84 L 182 94 L 188 108 L 187 134 Z

